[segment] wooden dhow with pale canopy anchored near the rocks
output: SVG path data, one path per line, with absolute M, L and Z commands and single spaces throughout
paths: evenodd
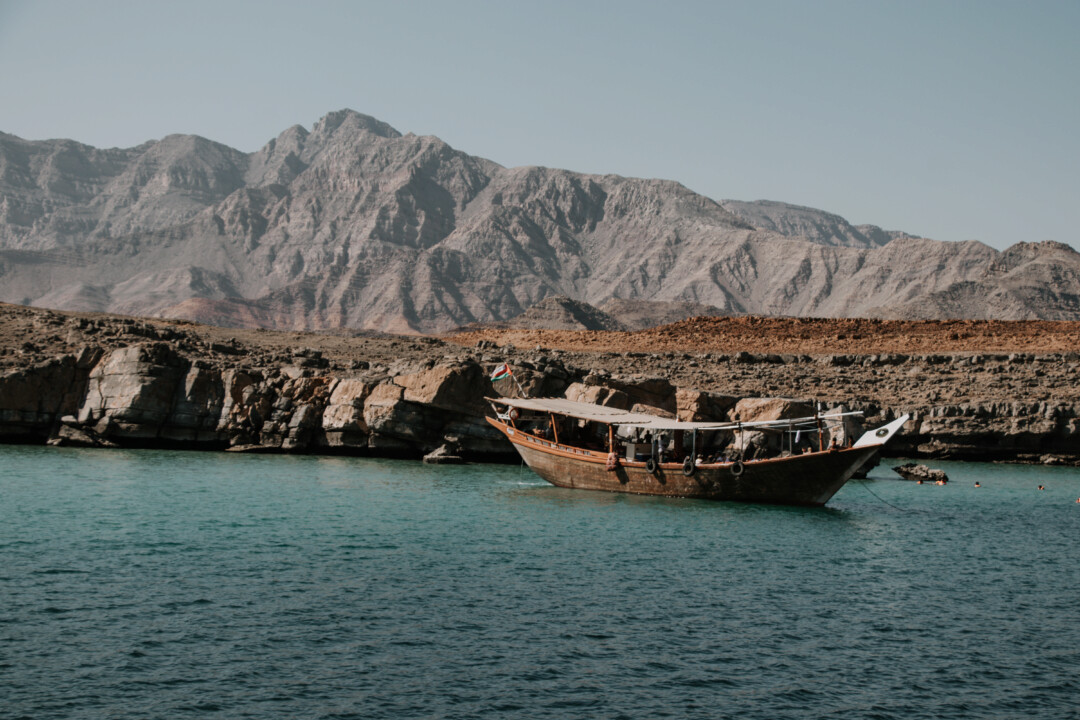
M 496 416 L 487 421 L 537 475 L 561 488 L 784 505 L 824 505 L 908 419 L 872 430 L 850 447 L 824 447 L 827 426 L 861 413 L 684 422 L 564 398 L 486 399 Z M 716 431 L 816 434 L 818 444 L 812 451 L 766 460 L 716 457 L 705 443 Z M 643 436 L 647 441 L 634 441 Z M 788 441 L 795 450 L 795 440 Z

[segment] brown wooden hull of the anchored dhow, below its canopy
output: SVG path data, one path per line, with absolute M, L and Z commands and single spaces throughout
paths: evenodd
M 606 453 L 557 445 L 490 418 L 488 422 L 503 432 L 537 475 L 562 488 L 784 505 L 824 505 L 880 447 L 701 465 L 688 476 L 681 463 L 660 463 L 650 473 L 645 463 L 620 461 L 608 470 Z

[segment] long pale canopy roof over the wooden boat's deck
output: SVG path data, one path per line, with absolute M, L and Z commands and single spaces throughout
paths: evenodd
M 862 412 L 832 412 L 829 415 L 811 416 L 809 418 L 784 418 L 783 420 L 758 420 L 754 422 L 686 422 L 671 418 L 660 418 L 644 412 L 630 412 L 629 410 L 620 410 L 619 408 L 605 407 L 592 403 L 578 403 L 577 400 L 568 400 L 563 397 L 488 397 L 486 399 L 490 403 L 497 403 L 519 410 L 554 412 L 555 415 L 589 422 L 603 422 L 608 425 L 619 425 L 622 427 L 645 427 L 647 430 L 797 429 L 813 425 L 819 419 L 827 421 L 845 416 L 862 415 Z

